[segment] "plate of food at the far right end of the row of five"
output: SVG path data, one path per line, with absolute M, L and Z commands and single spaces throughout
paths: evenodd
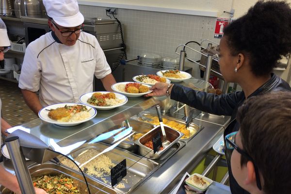
M 169 79 L 172 82 L 180 82 L 184 80 L 188 80 L 192 77 L 191 74 L 185 72 L 185 71 L 179 71 L 179 70 L 162 70 L 157 72 L 158 76 L 164 77 Z

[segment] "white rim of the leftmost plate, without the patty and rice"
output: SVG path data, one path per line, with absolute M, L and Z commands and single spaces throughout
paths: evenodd
M 89 121 L 92 118 L 94 118 L 96 116 L 96 114 L 97 114 L 97 111 L 94 108 L 92 108 L 91 106 L 85 105 L 87 107 L 87 109 L 90 110 L 89 111 L 90 117 L 85 119 L 85 120 L 77 121 L 77 122 L 60 122 L 60 121 L 56 121 L 56 120 L 53 120 L 53 119 L 49 118 L 49 111 L 47 111 L 46 109 L 56 109 L 56 108 L 64 107 L 65 105 L 74 106 L 74 105 L 83 105 L 83 104 L 81 104 L 81 103 L 52 104 L 52 105 L 49 105 L 49 106 L 41 109 L 38 112 L 38 116 L 39 116 L 39 118 L 41 120 L 46 121 L 48 123 L 56 124 L 56 125 L 59 125 L 59 126 L 69 127 L 69 126 L 75 126 L 75 125 L 79 125 L 79 124 L 81 124 L 83 122 Z

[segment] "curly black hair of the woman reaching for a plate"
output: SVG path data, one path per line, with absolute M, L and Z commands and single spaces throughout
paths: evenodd
M 281 55 L 291 51 L 291 8 L 286 1 L 258 1 L 224 29 L 231 54 L 250 57 L 256 76 L 270 74 Z

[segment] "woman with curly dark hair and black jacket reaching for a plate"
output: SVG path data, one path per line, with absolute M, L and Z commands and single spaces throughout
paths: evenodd
M 208 94 L 181 85 L 156 83 L 147 96 L 171 96 L 198 110 L 231 116 L 224 136 L 238 131 L 238 107 L 252 96 L 286 90 L 290 85 L 272 73 L 281 55 L 291 51 L 291 8 L 285 1 L 258 1 L 246 15 L 234 20 L 224 29 L 220 41 L 219 66 L 227 82 L 239 83 L 241 92 L 225 95 Z M 225 149 L 230 189 L 233 194 L 247 194 L 233 178 L 230 166 L 232 150 Z M 261 188 L 260 185 L 258 185 Z

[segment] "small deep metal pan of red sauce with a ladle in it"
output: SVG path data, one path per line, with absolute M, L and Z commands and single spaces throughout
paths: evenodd
M 170 149 L 171 146 L 175 145 L 175 143 L 178 142 L 178 140 L 183 136 L 183 133 L 170 127 L 164 126 L 164 129 L 166 132 L 167 140 L 169 140 L 171 144 L 169 146 L 166 146 L 162 150 L 157 151 L 156 153 L 154 153 L 154 151 L 149 147 L 144 146 L 146 142 L 152 141 L 153 137 L 155 137 L 157 133 L 160 133 L 162 137 L 161 126 L 157 126 L 154 129 L 151 129 L 149 132 L 147 132 L 144 136 L 136 140 L 136 144 L 139 146 L 140 155 L 145 156 L 146 158 L 149 159 L 157 160 L 161 157 L 163 153 Z

